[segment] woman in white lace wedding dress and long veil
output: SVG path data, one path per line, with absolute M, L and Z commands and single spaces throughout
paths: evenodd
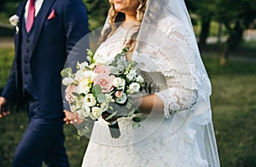
M 111 61 L 128 47 L 126 59 L 137 61 L 158 89 L 140 99 L 148 114 L 141 126 L 118 119 L 119 138 L 111 137 L 103 118 L 95 122 L 82 166 L 219 166 L 211 83 L 184 1 L 109 2 L 96 55 Z M 65 120 L 78 124 L 70 114 Z

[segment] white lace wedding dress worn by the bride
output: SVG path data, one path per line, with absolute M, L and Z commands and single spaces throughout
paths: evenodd
M 192 37 L 189 38 L 184 26 L 174 17 L 169 17 L 160 20 L 158 27 L 172 37 L 170 52 L 186 55 L 181 56 L 190 59 L 185 62 L 193 62 L 194 46 L 189 45 Z M 124 48 L 124 39 L 131 32 L 119 26 L 113 36 L 97 49 L 96 55 L 113 60 Z M 154 40 L 159 40 L 155 43 L 163 43 L 161 37 Z M 108 124 L 100 118 L 94 125 L 82 166 L 218 166 L 215 139 L 208 135 L 213 133 L 209 100 L 201 100 L 197 87 L 197 83 L 208 81 L 207 76 L 197 76 L 196 66 L 185 64 L 179 56 L 173 56 L 177 60 L 170 60 L 157 46 L 145 43 L 141 47 L 145 51 L 135 52 L 132 60 L 136 60 L 140 68 L 159 85 L 156 95 L 164 101 L 164 113 L 153 111 L 134 130 L 131 118 L 119 118 L 121 135 L 118 139 L 111 138 Z M 188 68 L 189 72 L 186 71 Z M 192 75 L 191 71 L 194 72 Z

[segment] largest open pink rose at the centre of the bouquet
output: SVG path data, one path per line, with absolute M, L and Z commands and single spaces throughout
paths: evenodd
M 102 93 L 109 93 L 113 90 L 113 76 L 98 74 L 94 78 L 94 85 L 98 84 L 102 88 Z

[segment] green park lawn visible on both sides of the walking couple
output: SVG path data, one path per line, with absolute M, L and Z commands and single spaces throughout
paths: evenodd
M 0 88 L 8 77 L 12 55 L 12 49 L 0 49 Z M 218 56 L 207 54 L 203 54 L 203 61 L 212 82 L 212 119 L 221 165 L 256 166 L 256 61 L 230 60 L 219 66 Z M 26 124 L 25 111 L 0 119 L 0 166 L 10 166 Z M 70 164 L 79 166 L 88 139 L 78 140 L 72 125 L 65 125 L 64 130 Z

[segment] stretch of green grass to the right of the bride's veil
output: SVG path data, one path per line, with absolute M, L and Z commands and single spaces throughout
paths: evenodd
M 212 117 L 222 166 L 255 166 L 256 66 L 204 57 L 212 81 Z

